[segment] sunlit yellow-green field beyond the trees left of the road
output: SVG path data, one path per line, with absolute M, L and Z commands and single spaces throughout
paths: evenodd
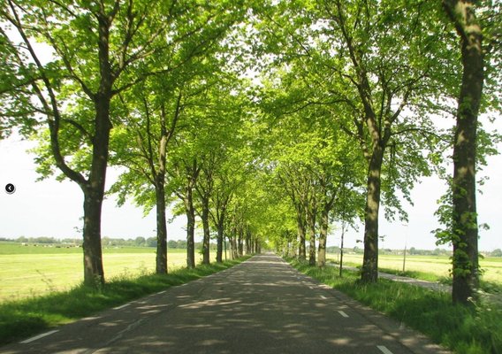
M 211 255 L 216 258 L 216 252 Z M 41 296 L 72 289 L 83 281 L 80 248 L 22 246 L 0 242 L 0 302 Z M 197 264 L 202 256 L 196 254 Z M 215 259 L 216 260 L 216 259 Z M 153 273 L 156 250 L 153 248 L 110 248 L 103 250 L 106 279 Z M 168 267 L 186 266 L 186 250 L 168 250 Z

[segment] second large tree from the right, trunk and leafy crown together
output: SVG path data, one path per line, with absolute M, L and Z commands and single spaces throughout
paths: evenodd
M 429 89 L 427 95 L 434 89 L 427 81 L 430 68 L 434 65 L 433 60 L 429 57 L 416 60 L 423 51 L 422 42 L 431 40 L 430 37 L 424 38 L 423 33 L 427 29 L 416 25 L 417 20 L 420 23 L 426 8 L 427 5 L 423 3 L 410 5 L 394 2 L 390 6 L 385 2 L 343 4 L 336 1 L 333 6 L 325 6 L 324 9 L 330 16 L 331 26 L 340 35 L 339 43 L 343 47 L 339 54 L 345 53 L 348 58 L 347 62 L 341 57 L 339 60 L 350 67 L 349 70 L 346 70 L 347 66 L 335 69 L 338 78 L 346 81 L 341 87 L 352 87 L 355 91 L 351 95 L 357 97 L 354 100 L 342 92 L 338 91 L 337 94 L 344 97 L 354 114 L 354 130 L 346 127 L 346 131 L 359 138 L 361 150 L 368 162 L 362 281 L 377 279 L 378 218 L 385 177 L 385 153 L 398 144 L 396 139 L 399 135 L 409 136 L 412 132 L 420 132 L 421 135 L 433 136 L 430 134 L 431 131 L 433 133 L 430 122 L 422 121 L 418 125 L 417 121 L 404 119 L 402 115 L 407 106 L 413 107 L 420 99 L 424 87 Z M 402 26 L 405 22 L 410 25 Z M 400 25 L 397 26 L 397 23 Z M 409 45 L 401 48 L 395 45 L 396 42 L 407 42 Z M 420 139 L 420 135 L 412 137 L 414 140 L 417 138 Z M 399 136 L 399 139 L 402 141 L 403 136 Z M 421 140 L 426 142 L 427 138 Z M 420 155 L 417 156 L 417 166 L 411 165 L 412 168 L 407 172 L 415 176 L 428 174 L 421 159 Z M 401 174 L 404 173 L 401 171 Z M 392 178 L 392 175 L 389 177 Z M 399 187 L 394 183 L 392 185 Z M 407 187 L 404 189 L 406 193 Z M 389 190 L 393 191 L 393 188 Z

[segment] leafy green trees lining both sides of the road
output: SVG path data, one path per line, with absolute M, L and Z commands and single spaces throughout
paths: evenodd
M 268 240 L 307 258 L 309 242 L 323 266 L 333 220 L 363 219 L 369 282 L 380 206 L 407 219 L 415 182 L 440 173 L 452 181 L 437 235 L 453 244 L 453 300 L 474 294 L 475 172 L 498 140 L 477 117 L 500 108 L 498 2 L 0 4 L 2 136 L 38 140 L 42 177 L 82 189 L 87 284 L 104 282 L 109 165 L 123 172 L 118 204 L 156 210 L 157 273 L 171 205 L 186 215 L 189 267 L 197 220 L 203 263 L 214 235 L 217 261 L 226 237 L 233 256 Z M 445 116 L 456 126 L 441 129 Z

